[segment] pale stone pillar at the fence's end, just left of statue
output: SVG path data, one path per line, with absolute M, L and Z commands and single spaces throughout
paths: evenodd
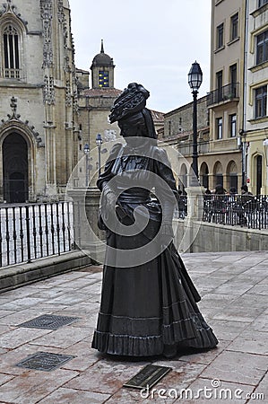
M 99 189 L 69 189 L 67 194 L 73 199 L 73 229 L 76 246 L 94 261 L 102 263 L 106 250 L 106 237 L 105 232 L 98 227 Z

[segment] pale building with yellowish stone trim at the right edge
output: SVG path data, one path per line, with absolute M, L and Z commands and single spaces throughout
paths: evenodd
M 246 1 L 243 161 L 254 194 L 268 194 L 268 0 Z

